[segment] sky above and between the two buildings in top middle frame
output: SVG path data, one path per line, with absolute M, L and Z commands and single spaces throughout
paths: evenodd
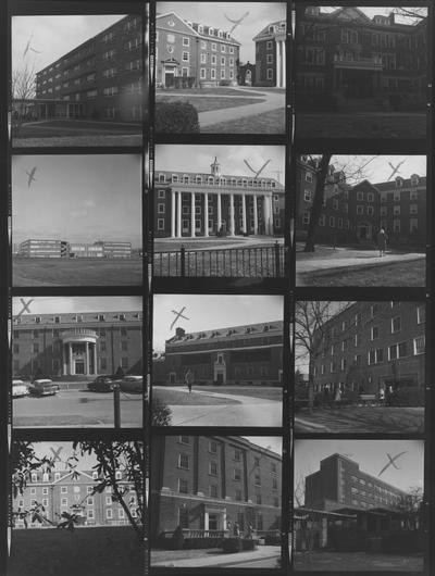
M 157 13 L 175 12 L 190 22 L 229 32 L 231 20 L 239 20 L 248 12 L 232 37 L 240 42 L 240 60 L 256 62 L 256 45 L 252 38 L 268 24 L 286 18 L 285 2 L 158 2 Z

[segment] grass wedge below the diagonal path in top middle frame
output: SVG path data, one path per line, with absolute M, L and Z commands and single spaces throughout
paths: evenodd
M 285 109 L 279 108 L 245 116 L 231 122 L 220 122 L 201 128 L 201 133 L 228 133 L 228 134 L 284 134 L 285 133 Z

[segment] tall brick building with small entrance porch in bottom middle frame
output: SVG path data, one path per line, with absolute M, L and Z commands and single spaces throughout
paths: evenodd
M 239 437 L 158 436 L 151 450 L 151 538 L 231 535 L 237 522 L 258 531 L 281 528 L 282 456 Z

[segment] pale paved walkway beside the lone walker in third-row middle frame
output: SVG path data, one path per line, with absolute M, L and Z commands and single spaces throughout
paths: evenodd
M 172 387 L 165 387 L 172 389 Z M 174 387 L 177 392 L 179 387 Z M 188 395 L 187 390 L 184 393 Z M 281 426 L 283 404 L 276 400 L 264 400 L 249 396 L 221 392 L 192 391 L 191 393 L 237 400 L 239 404 L 219 405 L 170 405 L 172 426 Z

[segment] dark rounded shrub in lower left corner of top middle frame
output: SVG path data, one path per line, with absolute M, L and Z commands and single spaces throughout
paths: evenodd
M 189 102 L 157 102 L 156 132 L 199 133 L 198 112 Z

